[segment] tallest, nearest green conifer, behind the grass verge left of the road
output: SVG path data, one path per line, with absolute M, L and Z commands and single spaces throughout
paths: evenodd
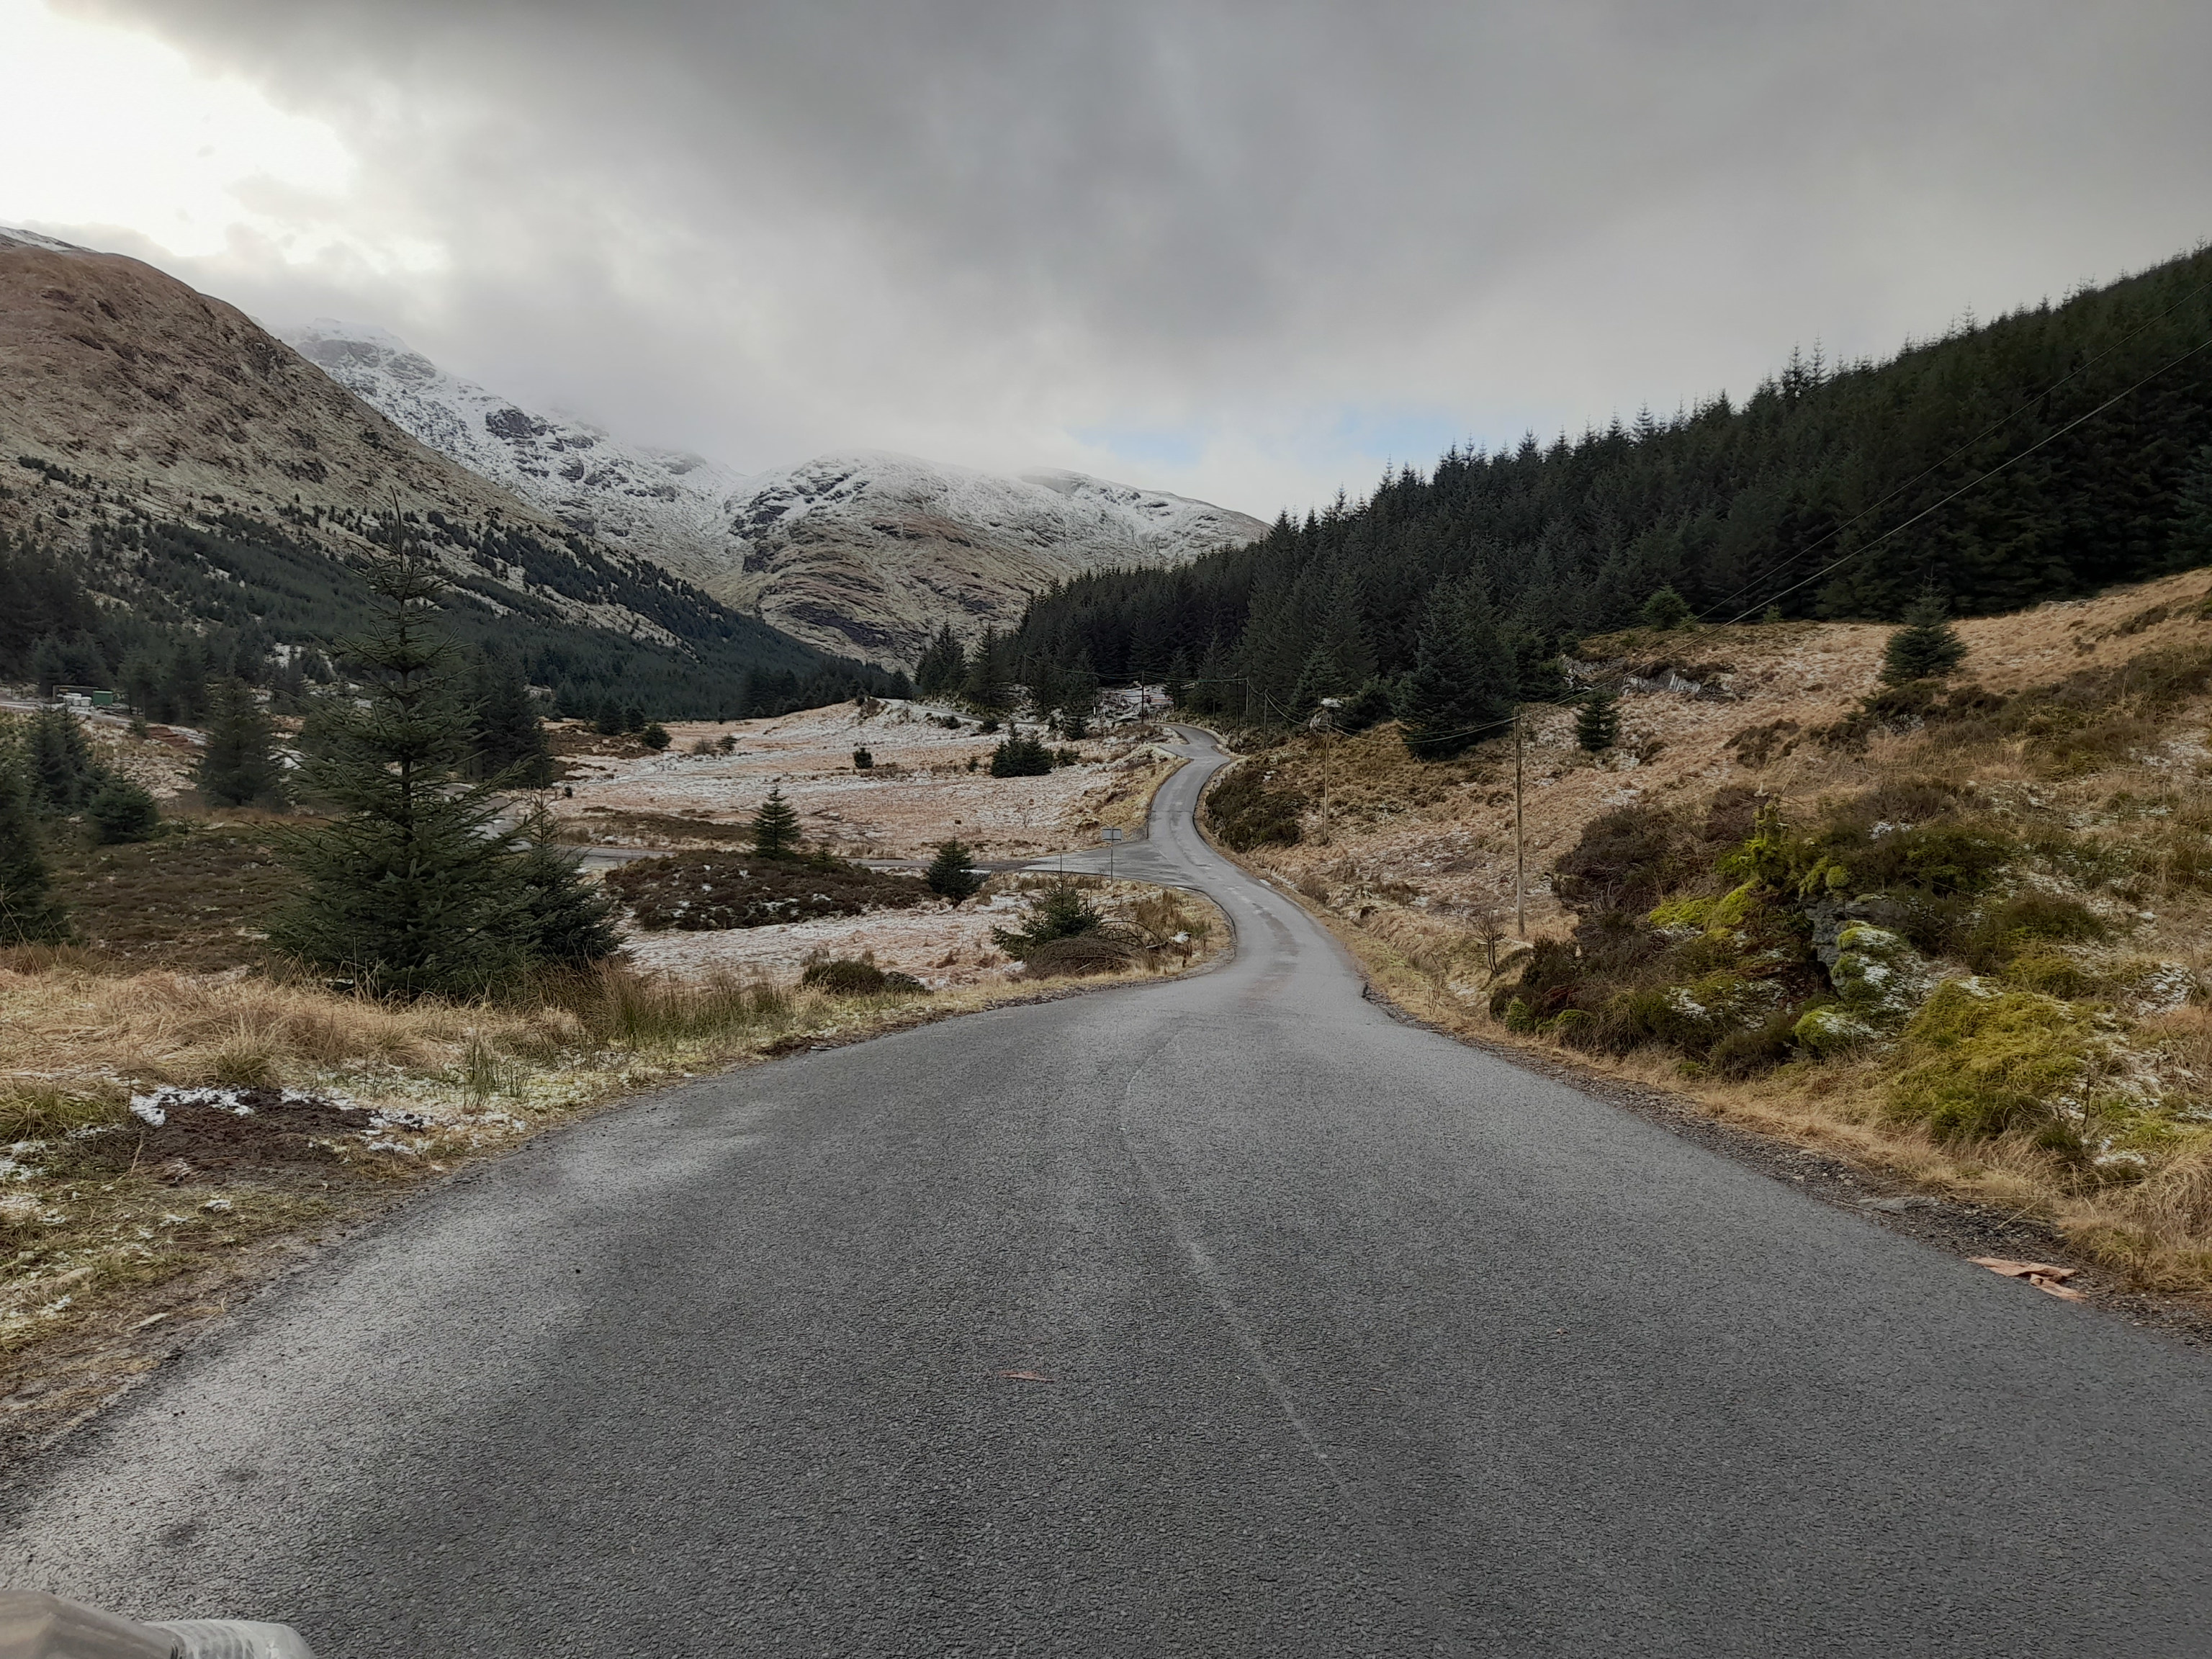
M 491 783 L 462 779 L 469 708 L 436 633 L 442 584 L 411 546 L 383 562 L 378 617 L 349 644 L 367 708 L 334 697 L 307 723 L 307 785 L 338 807 L 288 836 L 305 878 L 270 945 L 392 995 L 480 995 L 535 960 L 518 836 Z

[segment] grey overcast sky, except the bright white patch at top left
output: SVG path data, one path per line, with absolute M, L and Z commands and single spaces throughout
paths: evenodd
M 42 228 L 745 469 L 889 447 L 1267 515 L 2212 226 L 2201 0 L 7 4 L 352 157 L 241 179 L 219 248 Z

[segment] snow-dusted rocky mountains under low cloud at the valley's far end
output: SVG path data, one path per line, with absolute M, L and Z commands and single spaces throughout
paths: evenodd
M 524 409 L 376 327 L 319 321 L 283 338 L 420 442 L 562 522 L 880 664 L 911 666 L 945 622 L 964 637 L 1009 626 L 1071 575 L 1183 564 L 1267 529 L 1084 473 L 1002 478 L 880 451 L 748 478 Z

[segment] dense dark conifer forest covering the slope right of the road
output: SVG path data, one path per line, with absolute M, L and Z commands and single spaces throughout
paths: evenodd
M 1002 650 L 1024 679 L 1175 681 L 1203 712 L 1411 701 L 1442 730 L 1555 690 L 1546 661 L 1661 593 L 1714 622 L 1893 619 L 1927 591 L 1995 613 L 2205 562 L 2199 250 L 1885 363 L 1792 354 L 1741 405 L 1453 449 L 1250 546 L 1077 577 Z

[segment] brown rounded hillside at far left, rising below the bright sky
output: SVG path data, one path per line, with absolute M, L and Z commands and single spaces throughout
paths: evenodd
M 644 677 L 681 712 L 686 679 L 703 675 L 710 712 L 732 706 L 748 672 L 799 684 L 832 670 L 420 445 L 239 310 L 135 259 L 11 230 L 0 460 L 13 462 L 0 533 L 53 549 L 126 611 L 175 613 L 186 628 L 250 617 L 279 639 L 327 639 L 356 608 L 378 520 L 403 513 L 478 630 L 498 622 L 542 684 L 566 675 L 580 695 L 606 695 Z M 210 611 L 204 588 L 228 599 Z

